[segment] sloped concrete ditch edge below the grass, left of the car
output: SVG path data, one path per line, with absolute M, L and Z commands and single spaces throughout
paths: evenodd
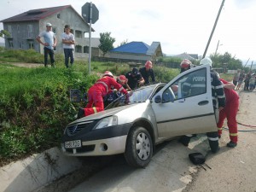
M 59 148 L 50 148 L 42 154 L 33 154 L 1 167 L 0 191 L 32 192 L 81 166 L 78 159 L 64 156 Z

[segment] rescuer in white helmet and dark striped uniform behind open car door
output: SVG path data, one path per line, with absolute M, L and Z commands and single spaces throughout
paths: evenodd
M 208 57 L 203 58 L 200 61 L 200 65 L 210 65 L 210 67 L 212 67 L 212 60 Z M 204 79 L 201 79 L 201 80 L 203 81 Z M 200 82 L 197 82 L 197 84 L 199 83 Z M 217 108 L 218 108 L 218 111 L 221 111 L 224 109 L 224 106 L 225 106 L 224 87 L 223 87 L 223 84 L 218 79 L 218 73 L 216 73 L 213 70 L 211 70 L 211 83 L 212 83 L 212 103 L 213 103 L 214 111 Z M 218 106 L 217 106 L 217 101 L 218 101 Z M 183 145 L 185 146 L 188 146 L 191 137 L 193 136 L 192 135 L 183 136 L 179 139 L 179 142 L 183 143 Z M 217 128 L 216 128 L 216 131 L 207 132 L 207 137 L 208 137 L 208 142 L 212 150 L 212 153 L 217 153 L 219 150 Z

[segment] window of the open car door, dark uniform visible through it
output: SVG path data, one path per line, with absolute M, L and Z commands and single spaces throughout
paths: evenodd
M 207 92 L 207 69 L 201 68 L 183 75 L 171 84 L 162 96 L 163 102 L 172 102 L 190 96 L 198 96 Z

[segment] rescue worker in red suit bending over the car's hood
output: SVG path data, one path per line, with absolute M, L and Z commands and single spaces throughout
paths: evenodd
M 79 108 L 78 118 L 88 116 L 104 110 L 103 97 L 106 96 L 111 87 L 121 93 L 127 94 L 127 90 L 113 79 L 113 74 L 106 71 L 101 79 L 98 79 L 88 90 L 88 103 L 85 108 Z

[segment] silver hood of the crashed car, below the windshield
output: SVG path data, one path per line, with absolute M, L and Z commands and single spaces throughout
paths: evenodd
M 83 117 L 81 119 L 77 119 L 77 120 L 73 121 L 70 124 L 84 122 L 84 121 L 90 121 L 90 120 L 96 120 L 96 119 L 102 119 L 102 118 L 111 116 L 115 113 L 119 113 L 120 111 L 123 111 L 125 109 L 135 107 L 135 106 L 140 105 L 140 104 L 142 104 L 142 103 L 135 103 L 135 104 L 132 104 L 132 105 L 125 105 L 125 106 L 118 107 L 118 108 L 111 108 L 111 109 L 108 109 L 108 110 L 105 110 L 105 111 L 101 111 L 99 113 L 91 114 L 91 115 Z

